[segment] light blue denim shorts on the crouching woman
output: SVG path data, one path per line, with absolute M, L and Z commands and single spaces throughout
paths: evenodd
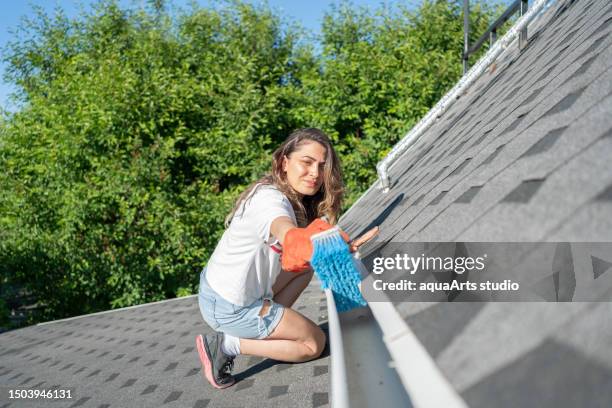
M 264 316 L 260 316 L 264 300 L 270 301 L 270 307 Z M 200 274 L 198 303 L 204 321 L 213 330 L 242 339 L 268 337 L 285 311 L 283 305 L 269 298 L 258 299 L 248 306 L 238 306 L 228 302 L 208 285 L 206 268 Z

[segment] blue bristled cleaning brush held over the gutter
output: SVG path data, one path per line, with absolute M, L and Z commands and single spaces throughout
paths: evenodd
M 331 288 L 339 312 L 365 306 L 359 292 L 361 274 L 353 263 L 349 247 L 338 227 L 311 237 L 313 251 L 310 264 L 323 289 Z

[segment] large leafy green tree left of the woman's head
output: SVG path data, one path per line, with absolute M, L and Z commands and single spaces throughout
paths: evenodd
M 278 17 L 160 13 L 39 13 L 11 46 L 24 105 L 1 129 L 0 269 L 44 299 L 40 319 L 192 293 L 236 193 L 296 126 Z

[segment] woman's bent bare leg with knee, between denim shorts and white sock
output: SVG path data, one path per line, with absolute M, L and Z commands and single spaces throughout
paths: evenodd
M 262 314 L 269 307 L 262 307 Z M 281 321 L 263 340 L 240 339 L 240 353 L 299 363 L 315 359 L 325 348 L 325 333 L 300 313 L 286 308 Z

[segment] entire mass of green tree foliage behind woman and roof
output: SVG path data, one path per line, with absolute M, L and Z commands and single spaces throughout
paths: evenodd
M 237 194 L 295 128 L 334 139 L 348 206 L 460 76 L 458 2 L 341 4 L 320 53 L 265 7 L 149 5 L 38 12 L 6 50 L 22 107 L 0 116 L 0 277 L 44 304 L 35 320 L 195 293 Z M 494 10 L 472 10 L 476 36 Z

